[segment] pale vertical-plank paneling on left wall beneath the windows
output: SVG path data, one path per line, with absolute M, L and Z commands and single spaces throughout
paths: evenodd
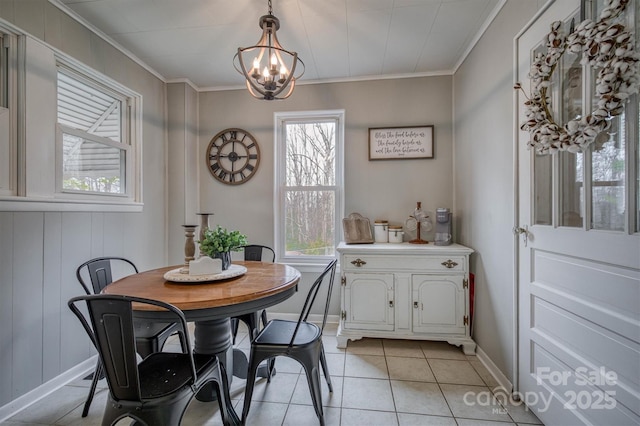
M 148 264 L 135 242 L 142 234 L 128 232 L 134 215 L 0 212 L 0 371 L 10 372 L 0 375 L 0 405 L 92 354 L 67 308 L 83 293 L 75 270 L 102 255 Z

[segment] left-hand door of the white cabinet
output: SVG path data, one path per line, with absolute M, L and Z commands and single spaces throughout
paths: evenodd
M 345 329 L 393 330 L 393 274 L 347 273 Z

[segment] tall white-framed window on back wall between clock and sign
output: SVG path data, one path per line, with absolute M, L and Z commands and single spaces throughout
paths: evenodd
M 326 262 L 342 235 L 344 111 L 276 113 L 275 141 L 278 259 Z

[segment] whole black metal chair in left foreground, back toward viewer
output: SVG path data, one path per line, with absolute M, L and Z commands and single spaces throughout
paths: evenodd
M 137 362 L 133 303 L 137 308 L 165 310 L 175 318 L 183 337 L 181 353 L 156 352 Z M 213 355 L 193 353 L 187 320 L 178 308 L 156 300 L 104 294 L 77 296 L 68 305 L 104 366 L 109 397 L 103 426 L 124 417 L 143 425 L 179 425 L 191 399 L 208 383 L 216 390 L 223 423 L 239 422 L 231 406 L 224 366 Z

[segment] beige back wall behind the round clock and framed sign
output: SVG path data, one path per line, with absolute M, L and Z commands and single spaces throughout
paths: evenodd
M 358 212 L 403 224 L 416 202 L 435 211 L 453 203 L 453 139 L 450 76 L 368 82 L 300 85 L 285 101 L 265 102 L 246 90 L 200 93 L 200 205 L 215 212 L 211 224 L 240 229 L 255 244 L 273 246 L 274 112 L 345 110 L 345 215 Z M 368 129 L 435 126 L 435 158 L 368 160 Z M 205 152 L 220 130 L 239 127 L 258 141 L 261 152 L 256 175 L 242 185 L 224 185 L 205 167 Z M 455 214 L 455 212 L 454 212 Z M 270 309 L 298 312 L 300 297 L 317 273 L 305 274 L 296 297 Z M 339 311 L 339 291 L 331 314 Z

